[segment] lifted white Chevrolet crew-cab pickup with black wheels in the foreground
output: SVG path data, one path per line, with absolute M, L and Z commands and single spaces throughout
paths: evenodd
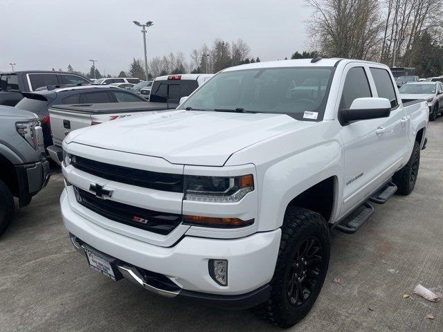
M 71 132 L 62 219 L 111 279 L 291 326 L 323 286 L 330 230 L 412 192 L 427 124 L 381 64 L 227 68 L 177 110 Z

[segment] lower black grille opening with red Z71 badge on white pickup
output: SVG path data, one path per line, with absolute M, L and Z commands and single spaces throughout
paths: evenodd
M 157 234 L 169 234 L 181 223 L 181 214 L 157 212 L 138 208 L 107 199 L 99 199 L 95 195 L 74 187 L 75 198 L 85 208 L 105 216 L 107 219 L 125 223 Z

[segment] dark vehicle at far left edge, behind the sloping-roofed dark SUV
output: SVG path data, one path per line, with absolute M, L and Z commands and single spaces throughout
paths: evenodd
M 0 105 L 15 106 L 23 93 L 33 92 L 43 86 L 91 84 L 77 73 L 62 71 L 11 71 L 0 73 Z

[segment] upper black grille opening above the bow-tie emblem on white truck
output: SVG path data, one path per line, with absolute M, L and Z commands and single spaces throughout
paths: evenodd
M 107 180 L 126 183 L 127 185 L 136 185 L 163 192 L 183 192 L 183 174 L 150 172 L 143 169 L 101 163 L 79 156 L 73 158 L 72 165 L 83 172 Z

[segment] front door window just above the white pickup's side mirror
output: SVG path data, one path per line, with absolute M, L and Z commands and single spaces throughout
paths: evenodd
M 356 98 L 372 97 L 368 77 L 363 67 L 354 67 L 347 72 L 340 108 L 349 109 Z

